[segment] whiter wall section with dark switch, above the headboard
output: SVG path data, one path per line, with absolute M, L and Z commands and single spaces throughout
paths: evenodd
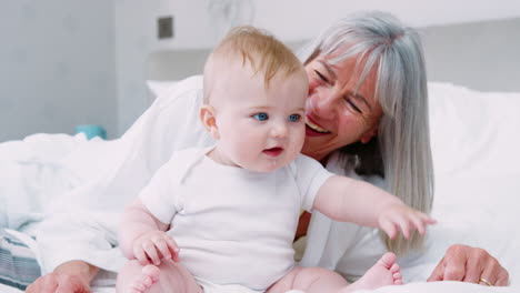
M 250 24 L 270 30 L 284 41 L 308 39 L 330 21 L 352 11 L 379 9 L 394 13 L 412 27 L 460 23 L 474 20 L 520 17 L 518 0 L 238 0 L 248 19 L 248 3 L 253 9 Z M 212 18 L 210 3 L 227 0 L 117 0 L 116 31 L 118 59 L 119 130 L 123 132 L 150 104 L 144 85 L 147 55 L 164 48 L 209 48 L 226 26 Z M 156 18 L 174 17 L 174 38 L 158 40 Z

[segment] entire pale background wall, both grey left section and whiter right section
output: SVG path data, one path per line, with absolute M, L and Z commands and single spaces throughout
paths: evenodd
M 284 41 L 311 38 L 360 9 L 387 10 L 413 27 L 520 17 L 518 0 L 238 1 L 243 16 L 237 22 L 262 27 Z M 166 48 L 212 47 L 227 24 L 209 6 L 226 2 L 1 1 L 0 141 L 72 133 L 80 123 L 100 123 L 109 137 L 120 135 L 151 103 L 147 57 Z M 173 39 L 157 39 L 162 16 L 174 17 Z

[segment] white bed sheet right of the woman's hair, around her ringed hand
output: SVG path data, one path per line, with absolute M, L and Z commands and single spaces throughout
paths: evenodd
M 391 292 L 520 292 L 520 93 L 479 92 L 429 83 L 436 173 L 428 250 L 402 273 L 416 283 Z M 424 283 L 451 244 L 487 250 L 510 273 L 509 287 L 460 282 Z M 419 282 L 417 282 L 419 280 Z

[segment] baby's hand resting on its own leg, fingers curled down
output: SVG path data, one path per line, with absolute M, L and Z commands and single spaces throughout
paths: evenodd
M 161 264 L 161 260 L 179 261 L 179 246 L 164 231 L 150 231 L 133 242 L 133 256 L 142 264 Z

